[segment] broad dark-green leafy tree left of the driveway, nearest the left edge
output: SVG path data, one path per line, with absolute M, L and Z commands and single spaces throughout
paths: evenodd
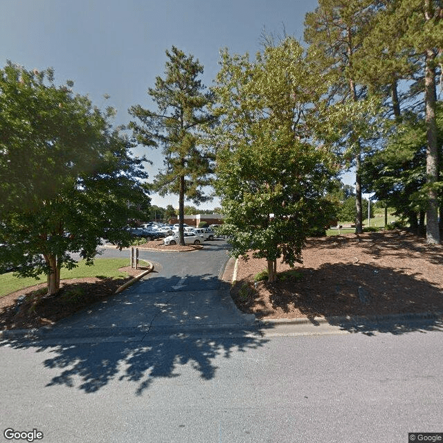
M 22 276 L 45 273 L 53 294 L 62 266 L 76 266 L 71 253 L 90 264 L 102 237 L 129 245 L 122 228 L 149 204 L 139 181 L 145 159 L 130 156 L 110 109 L 56 87 L 51 71 L 8 64 L 0 107 L 0 263 Z

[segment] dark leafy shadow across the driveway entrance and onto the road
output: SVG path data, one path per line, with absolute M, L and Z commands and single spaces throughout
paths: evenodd
M 143 395 L 156 379 L 179 378 L 189 370 L 184 366 L 203 380 L 214 379 L 217 359 L 230 359 L 267 342 L 255 324 L 239 320 L 242 314 L 226 298 L 229 284 L 211 275 L 192 276 L 187 288 L 163 292 L 161 288 L 177 286 L 177 278 L 151 278 L 141 282 L 139 290 L 134 286 L 131 292 L 108 298 L 33 340 L 9 338 L 0 346 L 44 352 L 42 367 L 36 370 L 48 372 L 48 387 L 92 393 L 111 382 L 126 381 L 135 383 L 135 395 Z M 140 290 L 150 284 L 159 291 Z M 236 323 L 219 327 L 217 318 L 226 309 L 233 310 Z M 125 315 L 131 320 L 127 326 Z M 100 317 L 95 326 L 87 326 Z M 211 319 L 215 323 L 201 332 L 201 325 Z

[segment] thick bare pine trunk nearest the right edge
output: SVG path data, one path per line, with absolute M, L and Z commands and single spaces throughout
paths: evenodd
M 433 186 L 438 181 L 438 148 L 437 123 L 435 121 L 435 68 L 434 52 L 426 51 L 426 67 L 424 76 L 425 105 L 426 105 L 426 182 L 428 188 L 428 208 L 426 210 L 426 242 L 440 243 L 440 230 L 437 219 L 438 198 Z

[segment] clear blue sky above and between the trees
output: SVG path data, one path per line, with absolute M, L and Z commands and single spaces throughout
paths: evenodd
M 115 107 L 115 123 L 126 124 L 132 105 L 153 108 L 147 89 L 163 75 L 172 45 L 199 59 L 210 86 L 221 48 L 255 54 L 262 30 L 282 33 L 283 26 L 301 42 L 305 14 L 316 6 L 316 0 L 1 0 L 0 63 L 51 66 L 58 84 L 73 80 L 75 92 L 98 107 Z M 160 153 L 137 153 L 154 161 L 152 179 Z M 178 197 L 153 195 L 152 203 L 176 207 Z M 201 208 L 214 206 L 217 200 Z

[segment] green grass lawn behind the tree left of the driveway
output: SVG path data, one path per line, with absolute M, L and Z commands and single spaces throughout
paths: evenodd
M 123 266 L 129 266 L 127 258 L 98 258 L 94 260 L 93 266 L 86 266 L 84 260 L 78 262 L 78 267 L 71 269 L 62 268 L 60 279 L 66 278 L 85 278 L 85 277 L 104 277 L 104 278 L 125 278 L 127 274 L 118 271 Z M 24 289 L 35 284 L 46 282 L 46 275 L 42 274 L 40 280 L 35 278 L 15 277 L 12 272 L 0 275 L 0 297 L 6 294 Z

